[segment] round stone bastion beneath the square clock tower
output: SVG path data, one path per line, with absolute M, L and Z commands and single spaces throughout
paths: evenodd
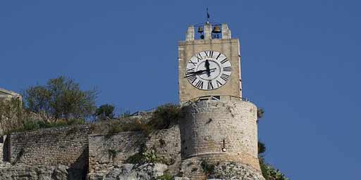
M 257 158 L 257 107 L 242 99 L 183 104 L 182 159 L 240 162 L 260 171 Z

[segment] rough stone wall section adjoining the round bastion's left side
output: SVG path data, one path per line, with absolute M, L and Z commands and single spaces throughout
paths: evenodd
M 90 135 L 89 172 L 106 172 L 114 165 L 123 164 L 143 147 L 155 150 L 159 158 L 169 165 L 171 172 L 178 171 L 181 164 L 181 137 L 179 127 L 174 126 L 154 131 L 149 136 L 141 131 Z

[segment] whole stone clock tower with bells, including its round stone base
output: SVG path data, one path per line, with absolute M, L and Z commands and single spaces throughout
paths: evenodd
M 229 176 L 263 179 L 257 107 L 242 97 L 238 39 L 231 38 L 226 24 L 190 26 L 185 41 L 178 43 L 178 56 L 183 172 L 190 179 L 203 179 L 204 173 L 192 165 L 206 162 L 246 169 Z

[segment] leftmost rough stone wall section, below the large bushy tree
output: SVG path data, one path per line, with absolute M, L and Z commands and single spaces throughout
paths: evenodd
M 84 169 L 89 133 L 90 125 L 76 125 L 11 134 L 11 163 Z

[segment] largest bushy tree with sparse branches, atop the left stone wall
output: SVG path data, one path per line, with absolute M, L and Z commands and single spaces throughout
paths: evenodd
M 85 119 L 94 115 L 97 91 L 82 91 L 73 79 L 49 79 L 45 86 L 30 86 L 25 90 L 25 106 L 47 120 Z

